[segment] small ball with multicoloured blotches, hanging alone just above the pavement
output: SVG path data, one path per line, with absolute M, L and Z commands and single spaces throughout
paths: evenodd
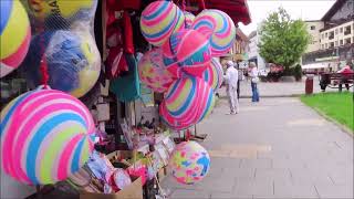
M 207 176 L 210 168 L 208 151 L 196 142 L 184 142 L 171 155 L 173 176 L 180 184 L 192 185 Z

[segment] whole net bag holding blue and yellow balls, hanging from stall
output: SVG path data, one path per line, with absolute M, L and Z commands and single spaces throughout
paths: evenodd
M 93 30 L 97 0 L 22 3 L 32 28 L 30 51 L 21 65 L 30 87 L 48 83 L 75 97 L 85 95 L 101 72 Z

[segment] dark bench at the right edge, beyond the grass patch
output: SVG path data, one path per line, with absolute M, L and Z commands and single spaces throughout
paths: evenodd
M 354 83 L 354 73 L 322 73 L 320 76 L 320 87 L 325 92 L 326 87 L 343 90 L 343 84 L 348 91 Z

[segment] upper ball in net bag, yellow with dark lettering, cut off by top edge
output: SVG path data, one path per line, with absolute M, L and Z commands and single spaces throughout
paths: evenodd
M 45 30 L 67 29 L 73 22 L 90 21 L 96 11 L 97 0 L 22 0 L 34 27 Z

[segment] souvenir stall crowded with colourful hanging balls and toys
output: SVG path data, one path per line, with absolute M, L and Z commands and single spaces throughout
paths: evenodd
M 1 175 L 35 190 L 22 198 L 166 198 L 165 176 L 207 175 L 192 133 L 235 42 L 228 13 L 202 0 L 0 4 Z

